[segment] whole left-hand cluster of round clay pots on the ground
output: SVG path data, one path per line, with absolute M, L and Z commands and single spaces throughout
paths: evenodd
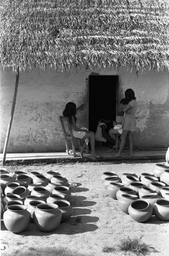
M 71 191 L 65 176 L 52 171 L 46 176 L 16 171 L 12 176 L 1 171 L 1 219 L 8 230 L 21 232 L 32 220 L 40 230 L 51 231 L 70 219 Z

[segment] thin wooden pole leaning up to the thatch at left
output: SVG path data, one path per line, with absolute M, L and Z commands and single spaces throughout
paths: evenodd
M 5 161 L 6 161 L 8 141 L 9 141 L 11 126 L 12 126 L 13 115 L 14 115 L 14 111 L 15 111 L 15 103 L 16 103 L 16 95 L 17 95 L 17 91 L 18 91 L 18 83 L 19 83 L 19 67 L 18 67 L 17 74 L 16 74 L 15 91 L 14 91 L 14 97 L 13 97 L 13 102 L 12 102 L 11 116 L 10 116 L 10 119 L 9 119 L 6 138 L 5 138 L 2 165 L 5 165 Z

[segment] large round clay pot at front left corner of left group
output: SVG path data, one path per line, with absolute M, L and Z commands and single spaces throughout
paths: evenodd
M 13 233 L 25 230 L 30 221 L 31 214 L 25 205 L 9 205 L 4 212 L 4 225 Z

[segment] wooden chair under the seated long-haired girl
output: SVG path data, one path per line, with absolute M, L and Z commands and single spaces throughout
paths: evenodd
M 65 117 L 65 116 L 60 116 L 60 120 L 61 120 L 61 124 L 62 124 L 62 128 L 63 128 L 63 132 L 64 132 L 64 136 L 65 136 L 65 143 L 66 143 L 66 150 L 68 155 L 70 155 L 70 148 L 69 148 L 69 140 L 71 140 L 71 144 L 72 144 L 72 150 L 73 150 L 73 155 L 74 157 L 76 157 L 76 150 L 75 150 L 75 141 L 77 140 L 77 138 L 73 137 L 72 134 L 72 128 L 69 122 L 69 117 Z M 78 139 L 78 144 L 79 144 L 79 150 L 80 150 L 80 139 Z M 87 147 L 87 154 L 88 154 L 88 147 Z M 83 154 L 81 154 L 81 157 L 83 157 Z

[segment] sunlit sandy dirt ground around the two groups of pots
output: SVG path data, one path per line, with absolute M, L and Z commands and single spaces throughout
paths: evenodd
M 140 238 L 150 245 L 150 255 L 168 255 L 169 222 L 160 221 L 155 216 L 145 223 L 133 221 L 119 209 L 118 201 L 107 195 L 100 180 L 103 172 L 109 170 L 120 177 L 127 172 L 140 176 L 143 172 L 152 172 L 155 162 L 77 162 L 6 167 L 11 173 L 22 169 L 27 173 L 38 170 L 43 174 L 47 170 L 58 170 L 69 182 L 77 183 L 77 186 L 71 188 L 73 214 L 70 220 L 52 232 L 39 231 L 34 223 L 30 223 L 25 231 L 15 234 L 8 231 L 1 221 L 2 256 L 122 255 L 124 252 L 119 250 L 118 244 L 127 237 Z M 114 247 L 115 250 L 103 252 L 106 246 Z

